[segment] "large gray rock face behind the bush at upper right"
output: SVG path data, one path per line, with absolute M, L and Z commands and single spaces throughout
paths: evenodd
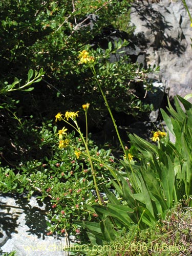
M 190 13 L 192 2 L 186 0 Z M 145 45 L 148 65 L 160 66 L 154 78 L 166 81 L 168 96 L 192 92 L 192 28 L 181 0 L 159 3 L 136 1 L 131 11 L 134 35 Z M 143 48 L 142 48 L 143 49 Z

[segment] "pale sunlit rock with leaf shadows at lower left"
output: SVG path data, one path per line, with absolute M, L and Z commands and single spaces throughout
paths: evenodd
M 46 205 L 33 196 L 0 195 L 0 247 L 17 256 L 63 256 L 65 237 L 47 236 Z

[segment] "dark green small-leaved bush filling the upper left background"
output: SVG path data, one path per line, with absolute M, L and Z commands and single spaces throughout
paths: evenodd
M 146 90 L 149 89 L 146 74 L 152 69 L 133 65 L 128 56 L 110 63 L 111 56 L 123 50 L 123 42 L 110 42 L 113 25 L 122 29 L 122 17 L 129 24 L 130 2 L 83 0 L 73 5 L 73 1 L 67 0 L 1 1 L 0 33 L 4 47 L 0 50 L 0 89 L 1 104 L 7 105 L 0 113 L 1 137 L 14 145 L 22 143 L 27 134 L 34 135 L 30 126 L 41 126 L 61 109 L 79 109 L 84 102 L 92 105 L 89 113 L 91 132 L 101 129 L 107 115 L 103 99 L 90 71 L 78 65 L 78 51 L 84 48 L 91 48 L 93 55 L 100 59 L 95 68 L 113 111 L 138 116 L 150 109 L 142 103 L 142 95 L 138 98 L 137 91 L 143 91 L 144 95 L 143 84 L 147 85 Z M 101 44 L 97 38 L 103 35 L 105 41 Z M 127 40 L 129 35 L 120 39 Z M 29 69 L 39 71 L 41 68 L 46 72 L 44 79 L 33 91 L 3 94 L 5 86 L 15 77 L 24 83 Z M 20 126 L 25 122 L 30 125 Z M 5 144 L 3 142 L 1 152 L 7 157 Z M 29 147 L 33 146 L 30 143 Z M 13 148 L 10 154 L 14 156 Z

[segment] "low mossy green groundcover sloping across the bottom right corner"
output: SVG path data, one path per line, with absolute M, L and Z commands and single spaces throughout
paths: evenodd
M 191 200 L 191 199 L 190 199 Z M 191 207 L 189 201 L 182 200 L 167 211 L 164 220 L 156 225 L 135 232 L 133 226 L 129 232 L 122 232 L 110 243 L 88 251 L 88 256 L 134 256 L 134 255 L 191 255 Z M 130 239 L 134 233 L 132 242 Z M 80 246 L 79 246 L 80 247 Z

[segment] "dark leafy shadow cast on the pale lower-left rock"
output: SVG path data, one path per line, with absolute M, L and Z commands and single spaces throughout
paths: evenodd
M 13 195 L 13 194 L 1 194 L 1 197 L 10 197 L 15 200 L 17 206 L 7 205 L 4 202 L 0 202 L 0 238 L 4 236 L 3 232 L 6 233 L 8 238 L 11 238 L 12 233 L 17 233 L 18 228 L 18 218 L 19 215 L 25 214 L 25 225 L 29 227 L 26 231 L 27 234 L 35 234 L 37 238 L 45 239 L 45 235 L 47 233 L 47 218 L 46 211 L 48 211 L 51 206 L 49 206 L 49 201 L 45 200 L 44 203 L 46 206 L 40 209 L 43 206 L 43 203 L 40 199 L 36 198 L 38 195 L 33 195 L 35 197 L 35 201 L 38 206 L 31 206 L 26 195 Z M 11 208 L 18 208 L 20 211 L 11 211 Z M 22 209 L 22 211 L 21 211 Z M 5 212 L 7 211 L 7 212 Z M 3 246 L 7 242 L 7 239 L 0 243 L 0 246 Z

